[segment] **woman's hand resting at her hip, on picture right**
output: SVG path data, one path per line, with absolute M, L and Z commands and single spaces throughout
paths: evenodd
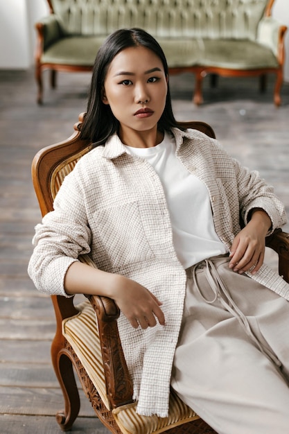
M 261 267 L 265 256 L 265 236 L 271 220 L 263 209 L 254 209 L 251 220 L 234 238 L 229 257 L 229 268 L 242 274 L 250 271 L 255 274 Z

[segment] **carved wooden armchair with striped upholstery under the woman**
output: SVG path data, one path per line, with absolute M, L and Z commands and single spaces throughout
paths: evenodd
M 89 151 L 89 143 L 79 139 L 82 115 L 79 120 L 69 139 L 47 146 L 33 159 L 33 184 L 43 216 L 53 209 L 53 200 L 65 175 Z M 206 123 L 195 121 L 179 125 L 215 137 Z M 289 235 L 279 229 L 268 238 L 268 245 L 278 252 L 279 270 L 289 281 Z M 80 257 L 80 260 L 94 266 L 89 257 Z M 84 301 L 74 306 L 73 297 L 53 295 L 51 298 L 57 323 L 51 357 L 65 404 L 56 419 L 63 431 L 71 428 L 80 408 L 74 366 L 96 415 L 112 433 L 150 434 L 168 430 L 172 434 L 215 433 L 173 392 L 170 394 L 169 417 L 137 415 L 136 403 L 132 400 L 132 381 L 119 339 L 116 321 L 119 309 L 113 300 L 83 297 Z

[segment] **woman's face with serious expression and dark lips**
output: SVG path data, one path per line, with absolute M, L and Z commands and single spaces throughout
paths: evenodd
M 157 129 L 168 90 L 159 57 L 143 46 L 118 53 L 105 77 L 103 103 L 120 123 L 121 138 Z

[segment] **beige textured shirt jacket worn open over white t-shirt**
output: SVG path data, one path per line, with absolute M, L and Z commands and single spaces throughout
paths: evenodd
M 177 157 L 207 185 L 216 232 L 227 248 L 261 207 L 272 230 L 286 223 L 283 205 L 272 187 L 231 159 L 218 142 L 196 130 L 172 130 Z M 114 135 L 91 150 L 68 175 L 55 199 L 55 211 L 37 225 L 28 272 L 46 293 L 66 295 L 67 268 L 90 252 L 98 268 L 126 275 L 163 302 L 166 325 L 133 329 L 121 315 L 119 331 L 143 415 L 168 413 L 170 372 L 182 321 L 186 272 L 173 246 L 164 190 L 146 160 L 125 153 Z M 289 285 L 263 266 L 253 277 L 289 300 Z

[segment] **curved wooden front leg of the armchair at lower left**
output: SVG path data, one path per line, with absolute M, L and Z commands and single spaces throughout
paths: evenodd
M 56 357 L 52 357 L 52 361 L 64 397 L 64 410 L 58 411 L 56 420 L 62 431 L 69 431 L 80 410 L 80 398 L 73 365 L 66 349 L 62 349 Z

